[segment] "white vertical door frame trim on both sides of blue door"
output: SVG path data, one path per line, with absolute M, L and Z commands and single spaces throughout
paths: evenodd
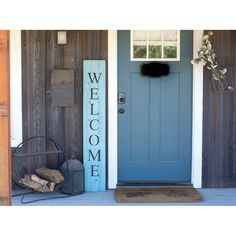
M 193 55 L 202 42 L 202 30 L 193 31 Z M 108 31 L 108 188 L 116 188 L 118 181 L 118 51 L 117 30 Z M 190 63 L 190 62 L 189 62 Z M 202 187 L 202 118 L 203 118 L 203 67 L 193 65 L 192 103 L 192 174 L 191 183 Z

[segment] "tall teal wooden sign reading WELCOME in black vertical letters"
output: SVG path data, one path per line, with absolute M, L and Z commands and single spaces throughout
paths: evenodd
M 85 191 L 106 190 L 106 62 L 83 64 L 83 161 Z

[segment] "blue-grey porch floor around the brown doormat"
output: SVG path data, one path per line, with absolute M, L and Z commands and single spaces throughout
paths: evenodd
M 236 188 L 228 189 L 197 189 L 203 202 L 197 203 L 117 203 L 114 190 L 106 192 L 86 192 L 68 198 L 50 199 L 34 203 L 22 204 L 22 196 L 12 198 L 13 206 L 236 206 Z M 39 198 L 60 196 L 60 194 L 29 194 L 24 201 Z

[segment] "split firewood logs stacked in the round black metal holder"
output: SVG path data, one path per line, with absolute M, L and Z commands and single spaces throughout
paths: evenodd
M 62 183 L 64 177 L 58 170 L 52 170 L 45 167 L 36 169 L 36 174 L 25 175 L 19 180 L 23 186 L 29 187 L 36 192 L 53 192 L 55 186 Z

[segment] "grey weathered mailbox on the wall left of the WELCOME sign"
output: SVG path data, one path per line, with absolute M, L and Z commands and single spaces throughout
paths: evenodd
M 52 105 L 74 105 L 74 71 L 66 69 L 52 70 Z

